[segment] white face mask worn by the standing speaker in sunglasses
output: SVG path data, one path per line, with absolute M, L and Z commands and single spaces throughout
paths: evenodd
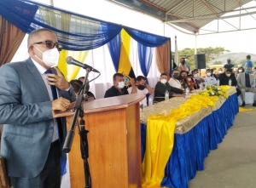
M 37 47 L 34 46 L 34 48 L 37 48 Z M 47 49 L 44 52 L 42 52 L 40 49 L 38 49 L 38 51 L 43 54 L 42 61 L 44 62 L 45 66 L 49 66 L 49 67 L 58 66 L 60 53 L 57 48 Z M 35 56 L 36 56 L 36 58 L 38 58 L 37 55 L 35 55 Z M 41 59 L 38 58 L 38 60 L 41 60 Z

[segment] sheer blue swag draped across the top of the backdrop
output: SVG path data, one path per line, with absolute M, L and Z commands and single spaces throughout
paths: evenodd
M 27 16 L 27 12 L 31 13 L 30 16 Z M 101 47 L 116 37 L 123 28 L 121 25 L 31 0 L 1 0 L 0 14 L 26 33 L 42 27 L 55 31 L 63 48 L 73 51 Z M 157 47 L 168 40 L 167 37 L 124 28 L 138 43 L 145 46 Z

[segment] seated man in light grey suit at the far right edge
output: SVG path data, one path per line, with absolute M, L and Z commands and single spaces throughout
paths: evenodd
M 245 92 L 254 93 L 253 106 L 256 106 L 256 88 L 253 75 L 251 75 L 251 67 L 246 66 L 245 72 L 241 72 L 237 77 L 237 86 L 241 89 L 242 105 L 245 106 Z

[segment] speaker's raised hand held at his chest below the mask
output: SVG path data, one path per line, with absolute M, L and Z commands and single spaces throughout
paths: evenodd
M 58 75 L 47 74 L 48 84 L 60 88 L 61 90 L 67 90 L 68 88 L 70 88 L 69 83 L 62 75 L 61 71 L 57 67 L 55 67 L 55 70 L 57 71 Z

